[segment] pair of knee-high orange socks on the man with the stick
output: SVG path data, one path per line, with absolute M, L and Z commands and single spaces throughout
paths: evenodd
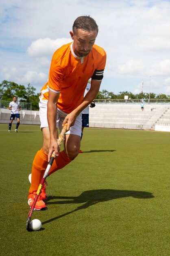
M 55 171 L 63 168 L 67 164 L 69 164 L 72 161 L 72 159 L 68 158 L 67 155 L 65 155 L 64 150 L 59 153 L 59 156 L 54 160 L 50 171 L 48 173 L 48 176 L 54 173 Z M 41 182 L 41 179 L 44 175 L 44 172 L 48 165 L 48 154 L 45 153 L 42 148 L 37 151 L 37 154 L 35 155 L 35 158 L 33 160 L 33 167 L 32 167 L 32 175 L 31 175 L 31 186 L 29 189 L 29 193 L 32 193 L 33 191 L 37 191 L 38 186 Z

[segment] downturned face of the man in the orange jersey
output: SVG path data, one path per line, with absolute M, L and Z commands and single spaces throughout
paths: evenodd
M 70 31 L 70 35 L 73 43 L 74 53 L 78 57 L 85 57 L 92 51 L 94 42 L 96 40 L 97 31 L 85 31 L 83 29 L 77 29 L 74 33 Z

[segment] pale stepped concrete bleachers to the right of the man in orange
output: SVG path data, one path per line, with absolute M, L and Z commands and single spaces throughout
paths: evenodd
M 101 128 L 155 130 L 155 124 L 169 108 L 169 105 L 140 104 L 98 104 L 89 108 L 89 126 Z

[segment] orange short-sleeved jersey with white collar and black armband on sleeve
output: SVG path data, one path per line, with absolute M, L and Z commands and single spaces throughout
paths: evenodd
M 74 54 L 72 43 L 63 45 L 52 56 L 49 79 L 40 98 L 48 100 L 48 90 L 60 92 L 58 108 L 72 112 L 81 104 L 89 79 L 102 80 L 105 64 L 105 50 L 97 45 L 85 57 Z

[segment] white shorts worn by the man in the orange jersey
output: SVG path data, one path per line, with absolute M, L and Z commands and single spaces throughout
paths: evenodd
M 42 99 L 40 99 L 39 101 L 39 118 L 41 121 L 41 128 L 48 127 L 47 102 L 48 102 L 47 100 L 42 100 Z M 67 115 L 68 113 L 65 113 L 61 109 L 57 108 L 56 127 L 59 127 L 60 132 L 62 130 L 63 121 Z M 71 126 L 70 130 L 65 134 L 74 134 L 81 137 L 81 127 L 82 127 L 82 114 L 78 115 L 74 123 L 74 126 Z

